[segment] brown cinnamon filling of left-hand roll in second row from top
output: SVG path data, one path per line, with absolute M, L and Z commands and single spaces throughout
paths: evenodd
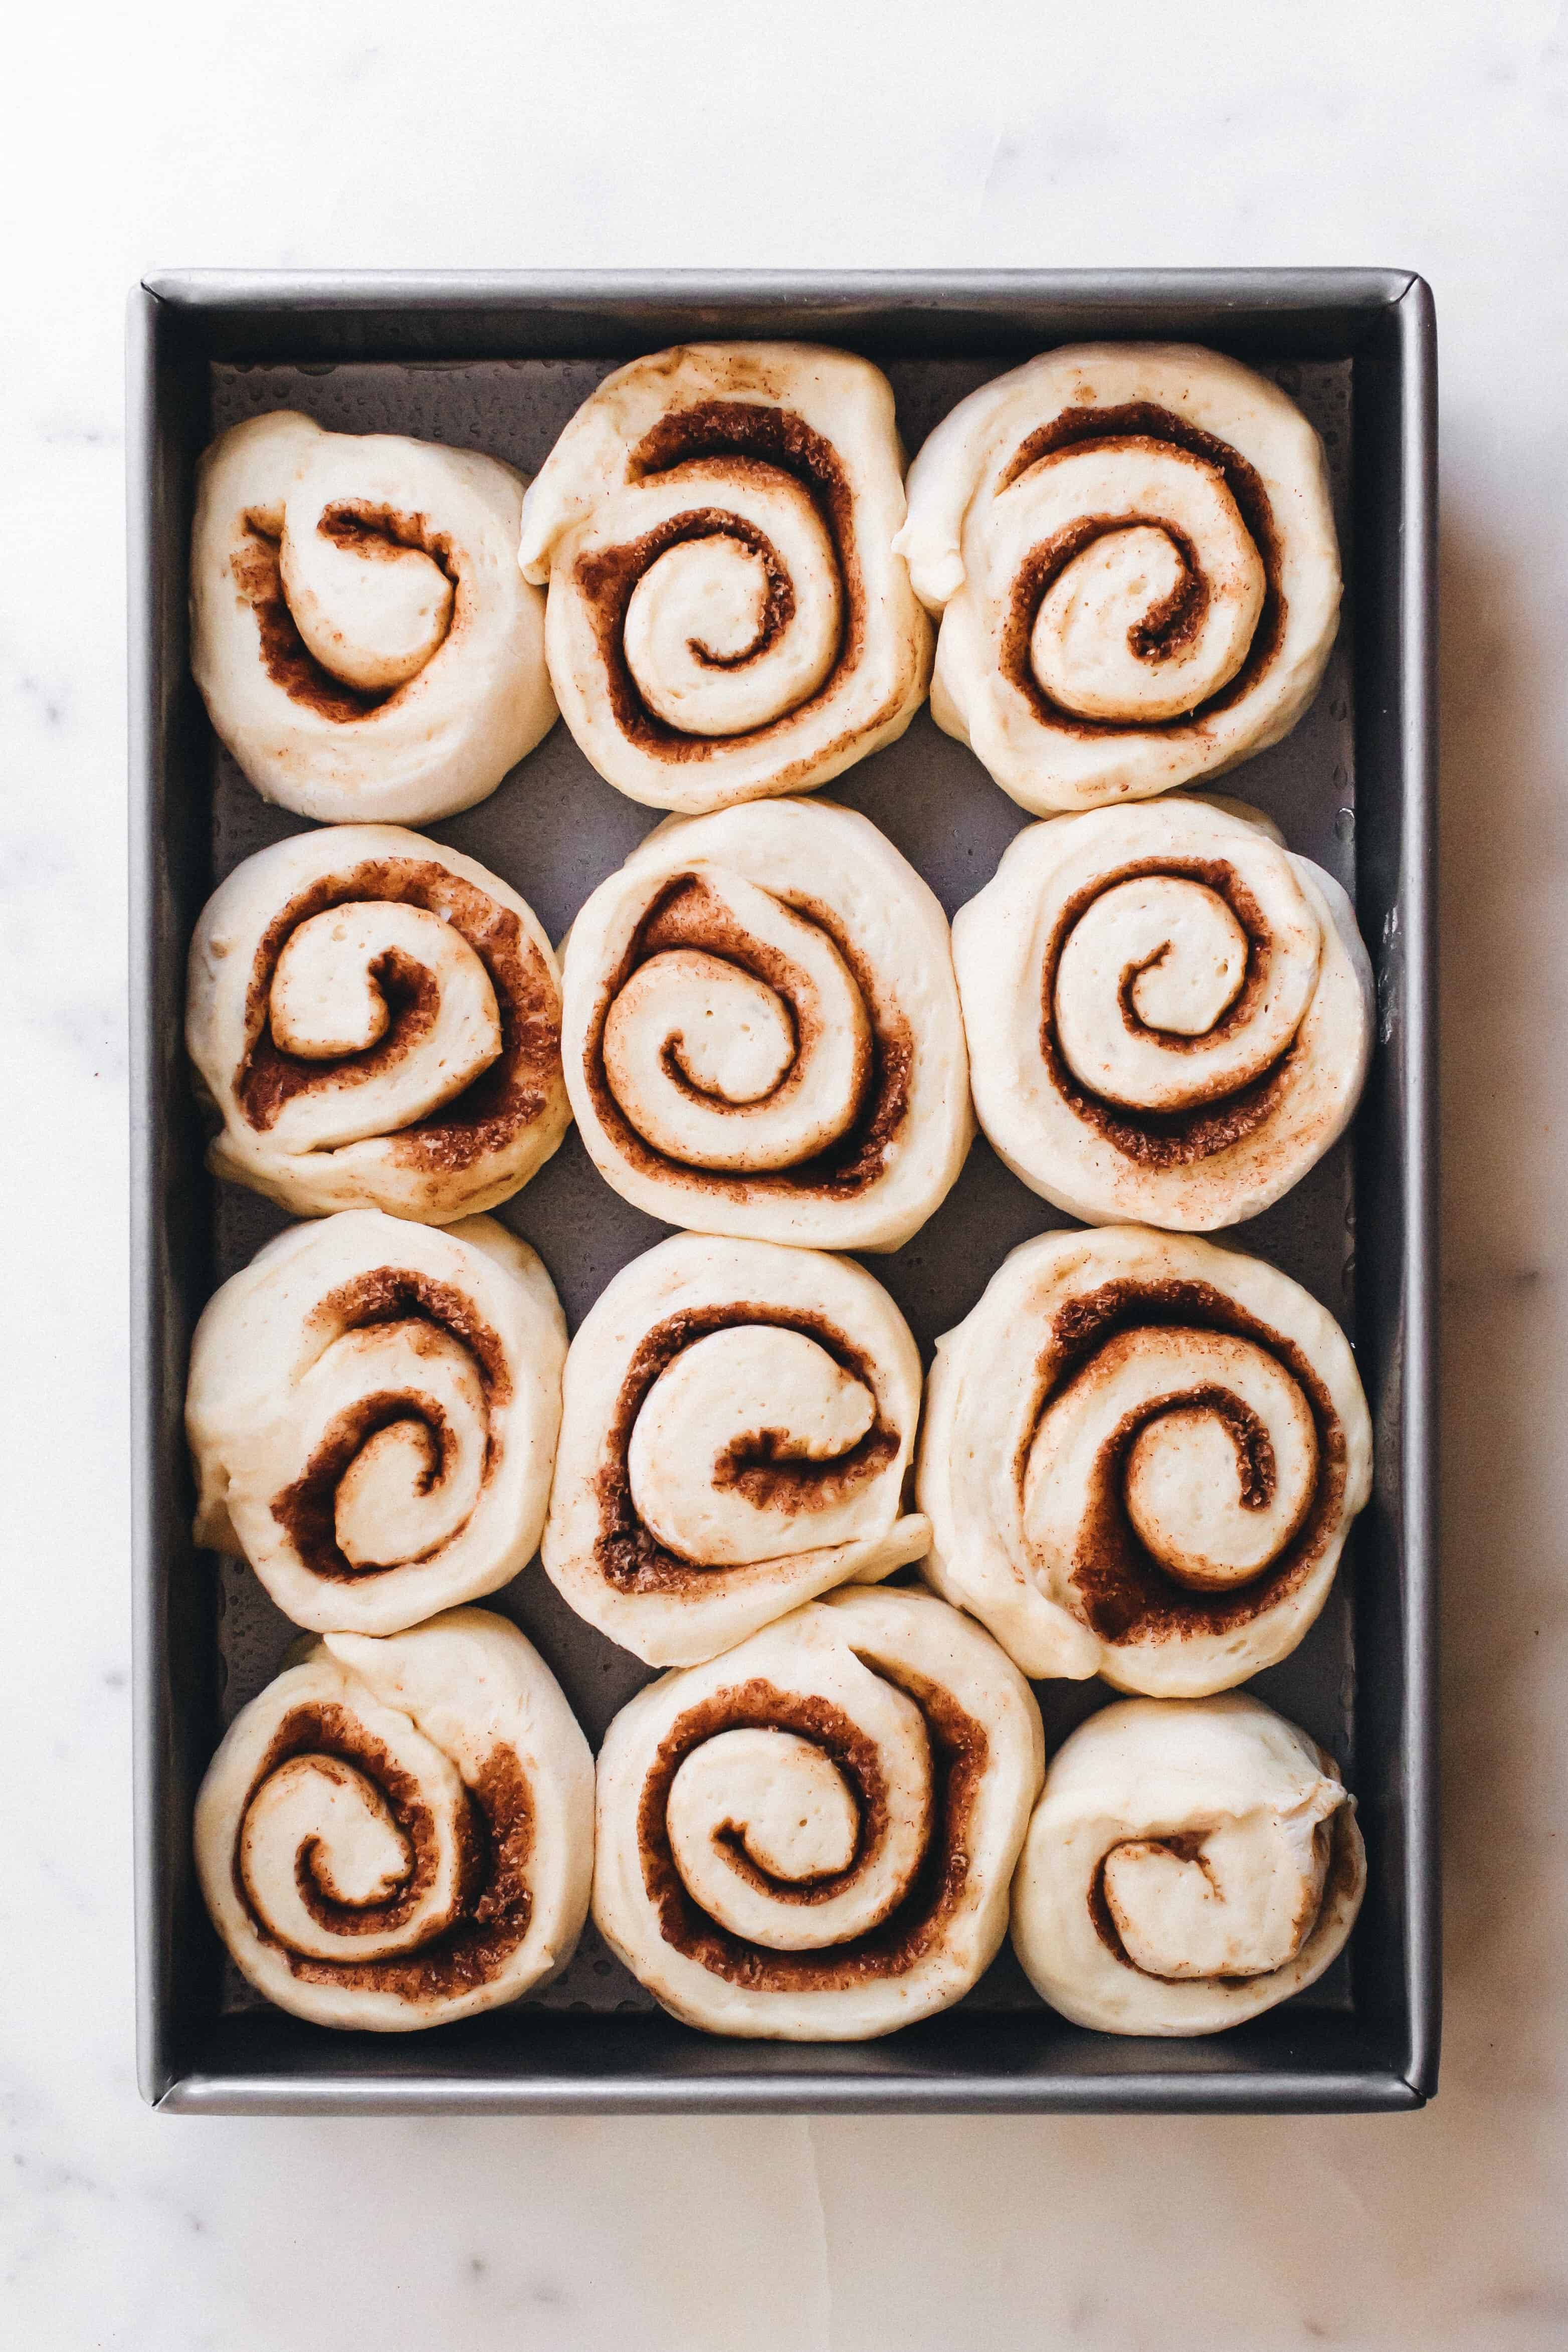
M 418 906 L 440 915 L 468 941 L 489 974 L 501 1014 L 501 1051 L 451 1103 L 386 1138 L 395 1155 L 414 1167 L 470 1169 L 487 1155 L 505 1150 L 545 1110 L 559 1068 L 559 993 L 520 917 L 477 884 L 430 861 L 364 858 L 339 875 L 322 875 L 280 908 L 252 964 L 244 1000 L 247 1047 L 235 1073 L 235 1101 L 249 1127 L 266 1134 L 292 1096 L 362 1082 L 416 1051 L 435 1018 L 435 981 L 423 964 L 404 955 L 378 957 L 371 967 L 393 1018 L 364 1054 L 310 1061 L 284 1054 L 268 1028 L 273 974 L 289 934 L 313 915 L 364 898 Z

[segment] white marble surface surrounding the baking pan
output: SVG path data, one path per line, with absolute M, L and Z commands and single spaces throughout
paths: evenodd
M 0 139 L 28 2352 L 1568 2343 L 1568 19 L 52 0 Z M 195 2122 L 132 2079 L 122 426 L 158 263 L 1408 263 L 1443 350 L 1448 2044 L 1410 2119 Z

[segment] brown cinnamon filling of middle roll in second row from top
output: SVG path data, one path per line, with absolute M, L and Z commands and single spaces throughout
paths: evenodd
M 750 971 L 752 978 L 759 978 L 766 988 L 771 988 L 788 1009 L 795 1025 L 795 1058 L 773 1094 L 764 1098 L 766 1103 L 778 1103 L 780 1094 L 804 1084 L 806 1061 L 811 1047 L 816 1044 L 818 1021 L 811 1011 L 813 993 L 806 988 L 797 967 L 778 950 L 752 938 L 750 931 L 745 931 L 729 915 L 729 908 L 717 891 L 708 887 L 701 873 L 686 873 L 672 875 L 658 887 L 646 915 L 632 934 L 621 967 L 604 983 L 597 1011 L 588 1028 L 588 1040 L 583 1044 L 583 1080 L 592 1105 L 604 1131 L 630 1167 L 665 1183 L 684 1183 L 696 1192 L 712 1195 L 719 1190 L 726 1200 L 736 1202 L 785 1200 L 799 1192 L 818 1192 L 827 1200 L 849 1200 L 856 1192 L 867 1190 L 867 1185 L 877 1183 L 882 1176 L 889 1148 L 893 1145 L 893 1138 L 898 1136 L 910 1110 L 910 1080 L 914 1068 L 914 1037 L 910 1033 L 910 1023 L 896 1004 L 886 1002 L 877 985 L 877 974 L 853 941 L 844 936 L 837 917 L 825 906 L 811 898 L 792 898 L 790 906 L 797 915 L 804 915 L 823 929 L 827 938 L 832 938 L 865 1007 L 870 1054 L 860 1058 L 856 1070 L 858 1108 L 846 1131 L 825 1152 L 813 1152 L 811 1160 L 802 1160 L 792 1169 L 745 1174 L 731 1169 L 689 1167 L 682 1160 L 670 1160 L 665 1152 L 656 1150 L 623 1112 L 604 1068 L 604 1023 L 609 1021 L 611 1004 L 632 974 L 649 962 L 649 957 L 663 955 L 670 948 L 698 948 L 703 955 L 712 955 L 719 962 L 736 964 L 741 971 Z M 677 1084 L 696 1091 L 677 1061 L 668 1058 L 665 1068 Z M 712 1098 L 705 1096 L 705 1101 Z M 750 1105 L 745 1103 L 731 1105 L 733 1117 L 745 1120 L 748 1108 Z

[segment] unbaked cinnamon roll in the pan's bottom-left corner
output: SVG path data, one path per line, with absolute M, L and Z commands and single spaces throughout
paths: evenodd
M 583 1931 L 588 1740 L 487 1609 L 331 1632 L 230 1724 L 195 1863 L 237 1969 L 296 2018 L 473 2018 L 557 1976 Z

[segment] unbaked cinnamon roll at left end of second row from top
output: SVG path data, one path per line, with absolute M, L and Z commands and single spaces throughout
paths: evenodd
M 397 826 L 296 833 L 230 873 L 190 941 L 186 1044 L 214 1174 L 303 1216 L 449 1225 L 510 1200 L 571 1122 L 534 910 Z

